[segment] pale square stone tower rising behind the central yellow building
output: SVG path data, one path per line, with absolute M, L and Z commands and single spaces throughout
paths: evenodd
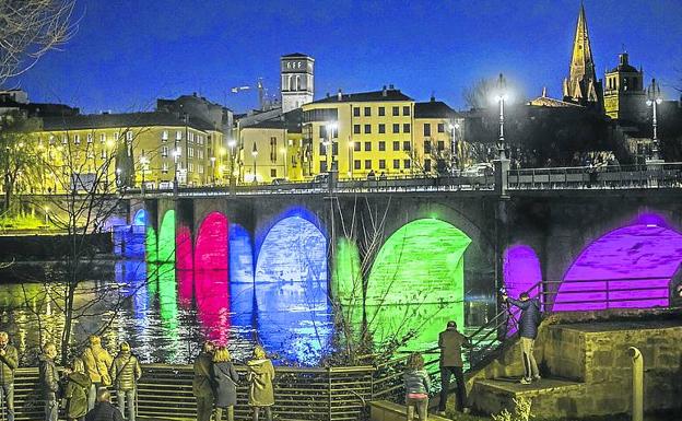
M 301 52 L 281 58 L 282 112 L 287 113 L 311 103 L 315 95 L 315 59 Z

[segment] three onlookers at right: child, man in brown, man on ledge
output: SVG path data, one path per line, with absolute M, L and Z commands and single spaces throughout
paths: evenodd
M 538 326 L 541 320 L 540 303 L 536 299 L 530 299 L 527 292 L 521 293 L 519 300 L 511 299 L 504 292 L 502 299 L 508 305 L 514 305 L 521 309 L 521 316 L 518 320 L 518 332 L 521 343 L 524 377 L 521 377 L 519 383 L 529 385 L 540 379 L 540 371 L 538 370 L 538 363 L 533 356 L 533 344 L 538 336 Z M 467 336 L 457 330 L 456 321 L 448 321 L 446 329 L 438 336 L 438 348 L 440 349 L 439 414 L 445 414 L 450 389 L 450 378 L 452 375 L 457 383 L 457 408 L 465 413 L 469 412 L 463 373 L 465 363 L 461 358 L 462 347 L 471 348 L 471 341 Z M 424 370 L 424 358 L 419 352 L 412 353 L 408 358 L 403 382 L 405 388 L 407 420 L 412 421 L 415 411 L 420 421 L 426 420 L 431 378 L 428 377 L 428 373 Z

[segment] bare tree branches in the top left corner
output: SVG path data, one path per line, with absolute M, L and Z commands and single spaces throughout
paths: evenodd
M 74 5 L 75 0 L 0 0 L 0 84 L 73 36 Z

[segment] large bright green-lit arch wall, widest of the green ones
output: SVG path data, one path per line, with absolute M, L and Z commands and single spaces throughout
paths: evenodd
M 425 349 L 444 321 L 465 326 L 463 254 L 470 243 L 437 219 L 410 222 L 388 237 L 368 279 L 367 319 L 376 343 L 413 336 L 408 348 Z

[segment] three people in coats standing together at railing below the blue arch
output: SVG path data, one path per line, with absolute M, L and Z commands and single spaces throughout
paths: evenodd
M 274 366 L 262 347 L 254 348 L 254 358 L 246 362 L 246 369 L 248 406 L 252 410 L 252 420 L 258 421 L 262 410 L 266 419 L 272 421 Z M 193 370 L 192 393 L 197 398 L 197 421 L 210 421 L 211 413 L 214 413 L 214 421 L 221 421 L 223 413 L 227 414 L 228 421 L 234 421 L 239 375 L 232 363 L 230 351 L 205 342 L 195 360 Z

